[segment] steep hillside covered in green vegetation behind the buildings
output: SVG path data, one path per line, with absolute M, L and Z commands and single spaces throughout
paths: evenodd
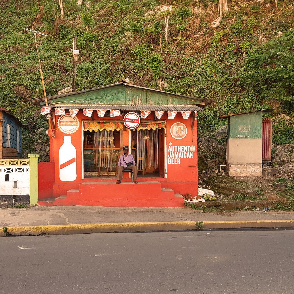
M 34 36 L 24 28 L 48 34 L 37 36 L 47 96 L 71 86 L 76 34 L 76 90 L 129 79 L 211 99 L 200 132 L 226 124 L 217 117 L 228 113 L 273 107 L 270 116 L 293 116 L 293 1 L 277 1 L 278 9 L 275 0 L 228 1 L 216 28 L 216 0 L 77 2 L 64 0 L 63 18 L 57 0 L 0 3 L 0 105 L 24 124 L 25 152 L 44 152 L 37 146 L 46 145 L 47 123 L 30 102 L 43 90 Z M 293 124 L 281 120 L 274 132 L 274 143 L 290 143 Z

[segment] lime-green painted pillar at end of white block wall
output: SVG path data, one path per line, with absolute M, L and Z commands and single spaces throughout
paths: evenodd
M 30 205 L 38 203 L 38 162 L 39 154 L 28 154 L 30 158 Z

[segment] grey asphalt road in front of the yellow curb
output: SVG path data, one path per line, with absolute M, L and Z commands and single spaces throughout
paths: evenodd
M 0 238 L 0 293 L 293 293 L 293 231 Z

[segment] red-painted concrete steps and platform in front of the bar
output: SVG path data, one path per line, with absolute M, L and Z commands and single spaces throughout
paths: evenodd
M 182 207 L 183 197 L 158 181 L 133 184 L 123 182 L 84 182 L 66 195 L 38 201 L 41 206 L 91 205 L 112 207 Z

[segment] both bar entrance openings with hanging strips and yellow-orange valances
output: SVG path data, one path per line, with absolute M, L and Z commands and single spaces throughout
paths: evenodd
M 114 178 L 122 154 L 123 132 L 125 136 L 126 131 L 123 131 L 121 122 L 113 123 L 117 129 L 112 130 L 104 128 L 111 126 L 110 123 L 109 126 L 107 123 L 102 125 L 101 122 L 96 122 L 96 125 L 94 122 L 92 125 L 87 123 L 83 132 L 84 176 Z M 164 122 L 144 124 L 139 130 L 129 130 L 127 133 L 131 153 L 138 168 L 138 176 L 164 178 L 166 174 Z

